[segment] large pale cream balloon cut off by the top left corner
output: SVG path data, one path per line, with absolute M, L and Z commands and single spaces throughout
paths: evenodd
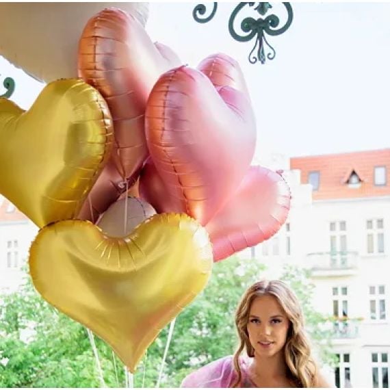
M 36 79 L 49 83 L 77 77 L 77 48 L 88 19 L 119 7 L 145 25 L 148 3 L 0 2 L 0 55 Z

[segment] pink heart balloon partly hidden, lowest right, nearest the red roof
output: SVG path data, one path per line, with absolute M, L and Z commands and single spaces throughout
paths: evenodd
M 206 225 L 214 261 L 269 239 L 281 229 L 290 208 L 289 186 L 280 174 L 252 166 L 235 195 Z

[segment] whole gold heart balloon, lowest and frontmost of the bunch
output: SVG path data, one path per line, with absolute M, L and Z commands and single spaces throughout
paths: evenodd
M 45 300 L 107 341 L 134 372 L 160 330 L 205 287 L 207 231 L 185 214 L 157 214 L 114 238 L 88 221 L 44 227 L 29 268 Z

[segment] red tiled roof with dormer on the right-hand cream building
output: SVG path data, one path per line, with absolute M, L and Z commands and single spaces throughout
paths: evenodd
M 374 185 L 376 166 L 386 167 L 386 185 Z M 301 171 L 302 183 L 309 183 L 309 172 L 320 172 L 320 187 L 313 191 L 313 200 L 390 195 L 390 149 L 292 157 L 290 168 Z M 361 179 L 360 187 L 348 187 L 352 171 Z

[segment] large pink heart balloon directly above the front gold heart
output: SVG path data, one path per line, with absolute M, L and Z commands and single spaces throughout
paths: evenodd
M 219 71 L 231 85 L 245 86 L 233 60 L 213 55 L 200 66 L 207 69 L 213 62 L 219 70 L 207 71 L 209 77 Z M 146 107 L 146 140 L 166 194 L 153 194 L 147 172 L 140 178 L 144 198 L 158 212 L 185 212 L 203 226 L 242 181 L 256 142 L 246 90 L 216 88 L 207 75 L 181 66 L 155 84 Z

